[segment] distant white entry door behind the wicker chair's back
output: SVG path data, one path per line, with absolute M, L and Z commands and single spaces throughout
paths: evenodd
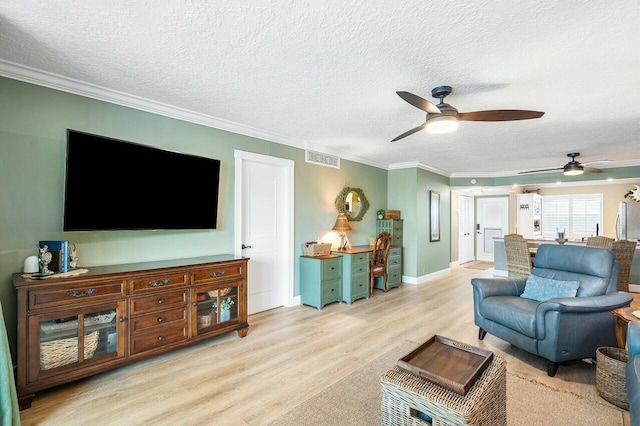
M 493 242 L 509 231 L 509 197 L 476 198 L 476 259 L 493 262 Z

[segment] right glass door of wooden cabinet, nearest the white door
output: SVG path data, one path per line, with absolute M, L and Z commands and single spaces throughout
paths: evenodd
M 228 321 L 238 320 L 238 285 L 201 285 L 192 289 L 193 333 L 201 334 L 205 329 L 224 326 Z

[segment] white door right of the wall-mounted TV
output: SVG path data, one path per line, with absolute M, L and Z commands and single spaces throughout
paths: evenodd
M 250 258 L 248 313 L 293 302 L 293 161 L 235 152 L 236 255 Z

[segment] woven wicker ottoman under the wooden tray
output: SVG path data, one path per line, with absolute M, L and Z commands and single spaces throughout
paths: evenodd
M 383 425 L 507 424 L 506 362 L 494 354 L 491 365 L 466 395 L 452 392 L 394 367 L 380 378 Z M 426 416 L 425 416 L 426 415 Z

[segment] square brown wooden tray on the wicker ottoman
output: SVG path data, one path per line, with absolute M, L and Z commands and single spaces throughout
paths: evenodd
M 450 391 L 466 395 L 491 364 L 493 352 L 435 335 L 398 360 L 398 366 Z

